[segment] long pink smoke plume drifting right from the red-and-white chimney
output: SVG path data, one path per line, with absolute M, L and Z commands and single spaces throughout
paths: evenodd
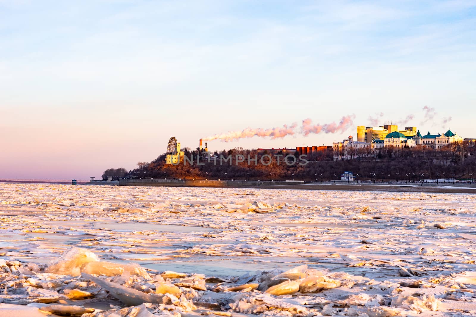
M 243 138 L 249 138 L 253 136 L 270 137 L 271 139 L 274 140 L 278 138 L 283 138 L 287 135 L 294 135 L 294 134 L 302 134 L 307 136 L 311 133 L 318 134 L 321 132 L 325 132 L 325 133 L 344 132 L 354 124 L 353 123 L 354 118 L 355 118 L 355 115 L 345 115 L 340 119 L 339 123 L 332 122 L 332 123 L 323 124 L 323 125 L 313 124 L 312 120 L 307 118 L 302 121 L 302 125 L 299 129 L 298 129 L 297 123 L 293 123 L 292 125 L 283 125 L 282 127 L 269 128 L 269 129 L 246 128 L 242 131 L 229 131 L 228 133 L 215 134 L 212 136 L 208 136 L 206 138 L 203 138 L 203 141 L 221 140 L 225 142 L 230 142 L 230 141 L 243 139 Z

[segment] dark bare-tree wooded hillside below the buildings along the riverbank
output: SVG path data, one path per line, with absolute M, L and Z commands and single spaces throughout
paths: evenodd
M 151 162 L 139 162 L 137 168 L 124 173 L 131 178 L 175 178 L 175 179 L 221 179 L 221 180 L 305 180 L 328 181 L 340 179 L 341 173 L 351 171 L 359 179 L 410 180 L 436 178 L 473 178 L 476 166 L 474 144 L 467 142 L 448 144 L 442 149 L 424 147 L 394 148 L 385 147 L 378 152 L 371 149 L 327 150 L 307 155 L 307 163 L 300 160 L 299 154 L 268 153 L 268 151 L 248 150 L 241 147 L 205 153 L 197 148 L 190 151 L 184 148 L 185 155 L 193 156 L 193 163 L 178 165 L 165 164 L 166 154 L 159 155 Z M 241 156 L 240 156 L 241 155 Z M 248 155 L 257 158 L 248 162 Z M 289 166 L 283 162 L 286 155 L 293 155 L 296 163 Z M 196 157 L 200 157 L 197 164 Z M 219 163 L 219 158 L 229 158 Z M 242 159 L 244 160 L 242 161 Z M 262 162 L 265 164 L 263 164 Z M 280 161 L 280 162 L 278 162 Z M 292 161 L 289 160 L 288 161 Z M 112 169 L 113 170 L 113 169 Z M 118 169 L 119 170 L 119 169 Z M 116 170 L 117 171 L 117 170 Z M 455 176 L 453 176 L 455 174 Z

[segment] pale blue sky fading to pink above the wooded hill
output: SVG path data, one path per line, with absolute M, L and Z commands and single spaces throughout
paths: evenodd
M 346 115 L 208 148 L 331 145 L 408 115 L 476 137 L 475 56 L 474 0 L 0 0 L 0 178 L 89 179 L 171 136 Z

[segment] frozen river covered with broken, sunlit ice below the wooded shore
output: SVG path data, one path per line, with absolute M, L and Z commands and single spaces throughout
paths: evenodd
M 36 264 L 31 274 L 41 279 L 51 260 L 77 247 L 149 274 L 216 277 L 222 282 L 208 279 L 207 290 L 180 288 L 197 293 L 187 297 L 192 302 L 218 305 L 200 309 L 224 316 L 473 316 L 475 215 L 475 194 L 0 183 L 0 261 Z M 11 267 L 0 284 L 7 294 L 19 288 L 6 282 Z M 296 276 L 276 278 L 296 267 Z M 316 277 L 328 287 L 307 292 L 302 283 Z M 298 288 L 279 295 L 267 291 L 269 281 Z M 259 287 L 222 287 L 240 283 Z M 8 296 L 0 296 L 0 316 L 18 308 Z M 91 307 L 70 299 L 63 304 Z M 198 309 L 147 305 L 158 315 Z M 108 316 L 99 308 L 88 314 Z

